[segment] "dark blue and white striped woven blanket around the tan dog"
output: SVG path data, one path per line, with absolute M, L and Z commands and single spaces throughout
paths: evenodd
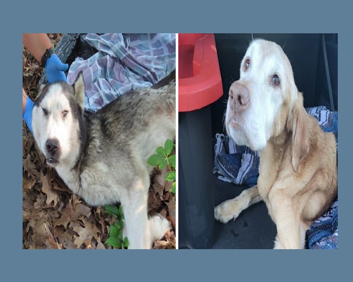
M 338 114 L 325 106 L 306 108 L 314 116 L 323 131 L 333 132 L 338 144 Z M 216 134 L 213 173 L 218 179 L 252 187 L 257 183 L 259 155 L 246 146 L 238 146 L 231 138 Z M 338 199 L 330 209 L 312 225 L 306 234 L 308 248 L 337 248 Z

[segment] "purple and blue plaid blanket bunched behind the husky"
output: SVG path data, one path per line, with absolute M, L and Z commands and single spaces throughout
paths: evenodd
M 88 33 L 93 56 L 77 57 L 68 72 L 73 84 L 80 71 L 85 82 L 85 109 L 99 110 L 126 92 L 150 87 L 175 69 L 176 36 L 166 34 Z

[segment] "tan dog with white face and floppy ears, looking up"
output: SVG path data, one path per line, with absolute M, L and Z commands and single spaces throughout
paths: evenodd
M 223 223 L 263 200 L 277 226 L 275 249 L 302 249 L 305 232 L 337 196 L 336 141 L 303 107 L 281 47 L 254 40 L 229 89 L 225 125 L 238 145 L 259 151 L 257 185 L 215 208 Z

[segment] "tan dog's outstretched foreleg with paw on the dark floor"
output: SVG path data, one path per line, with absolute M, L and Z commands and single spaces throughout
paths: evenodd
M 218 205 L 214 209 L 214 216 L 217 220 L 227 223 L 230 219 L 237 218 L 240 212 L 261 200 L 257 186 L 254 186 L 242 191 L 239 196 Z

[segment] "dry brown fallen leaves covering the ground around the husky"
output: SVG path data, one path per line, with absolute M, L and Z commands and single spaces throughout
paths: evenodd
M 56 45 L 61 34 L 48 34 Z M 23 88 L 30 98 L 37 95 L 42 68 L 23 48 Z M 154 249 L 175 249 L 175 195 L 165 171 L 151 176 L 148 212 L 167 217 L 172 229 Z M 104 207 L 90 207 L 73 194 L 56 171 L 47 166 L 31 132 L 23 122 L 23 248 L 24 249 L 111 249 L 104 244 L 115 218 Z

